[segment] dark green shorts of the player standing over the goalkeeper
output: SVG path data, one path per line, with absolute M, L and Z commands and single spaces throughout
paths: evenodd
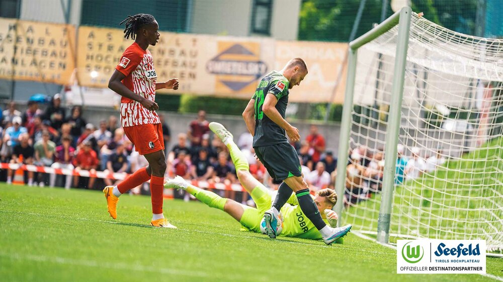
M 288 143 L 254 147 L 255 154 L 276 182 L 301 176 L 299 155 Z

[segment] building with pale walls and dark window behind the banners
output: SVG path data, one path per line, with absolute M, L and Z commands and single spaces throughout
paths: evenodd
M 127 15 L 147 13 L 158 20 L 161 31 L 296 40 L 300 6 L 301 0 L 2 0 L 0 17 L 120 28 Z M 35 93 L 61 92 L 62 87 L 0 79 L 0 99 L 22 101 Z

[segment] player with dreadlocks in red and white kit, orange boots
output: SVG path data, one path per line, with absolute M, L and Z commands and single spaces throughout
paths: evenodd
M 150 180 L 152 200 L 152 221 L 156 227 L 176 228 L 164 218 L 162 213 L 162 192 L 166 160 L 164 140 L 159 116 L 155 112 L 159 106 L 154 102 L 156 89 L 178 89 L 178 80 L 156 82 L 152 55 L 147 50 L 159 40 L 159 25 L 148 14 L 128 16 L 124 37 L 131 37 L 134 43 L 129 46 L 115 68 L 108 87 L 122 96 L 121 123 L 126 136 L 134 144 L 136 151 L 148 161 L 148 166 L 135 171 L 117 186 L 103 189 L 107 199 L 108 212 L 117 218 L 119 196 L 130 189 Z

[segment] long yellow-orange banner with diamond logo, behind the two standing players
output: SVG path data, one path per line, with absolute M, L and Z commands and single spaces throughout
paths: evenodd
M 77 75 L 83 86 L 107 87 L 124 50 L 133 43 L 119 29 L 80 27 Z M 158 81 L 178 78 L 177 93 L 249 99 L 258 81 L 291 58 L 306 60 L 309 74 L 291 91 L 293 102 L 342 102 L 345 74 L 337 78 L 347 52 L 345 43 L 275 41 L 270 38 L 161 32 L 150 46 Z M 344 69 L 343 69 L 344 71 Z M 171 92 L 173 90 L 161 90 Z

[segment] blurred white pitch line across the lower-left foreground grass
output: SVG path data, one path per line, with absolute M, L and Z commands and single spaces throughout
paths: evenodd
M 16 260 L 31 260 L 39 262 L 52 262 L 58 264 L 69 264 L 69 265 L 79 265 L 79 266 L 89 266 L 89 267 L 99 267 L 99 268 L 113 268 L 117 270 L 133 270 L 140 272 L 158 272 L 162 274 L 174 274 L 174 275 L 184 275 L 184 276 L 196 276 L 196 277 L 207 277 L 206 272 L 194 271 L 194 270 L 180 270 L 174 268 L 166 267 L 153 267 L 139 264 L 127 264 L 127 263 L 103 263 L 102 261 L 95 260 L 85 260 L 85 259 L 74 259 L 60 256 L 45 256 L 45 255 L 32 255 L 32 254 L 19 254 L 19 253 L 2 253 L 0 256 L 7 257 Z

